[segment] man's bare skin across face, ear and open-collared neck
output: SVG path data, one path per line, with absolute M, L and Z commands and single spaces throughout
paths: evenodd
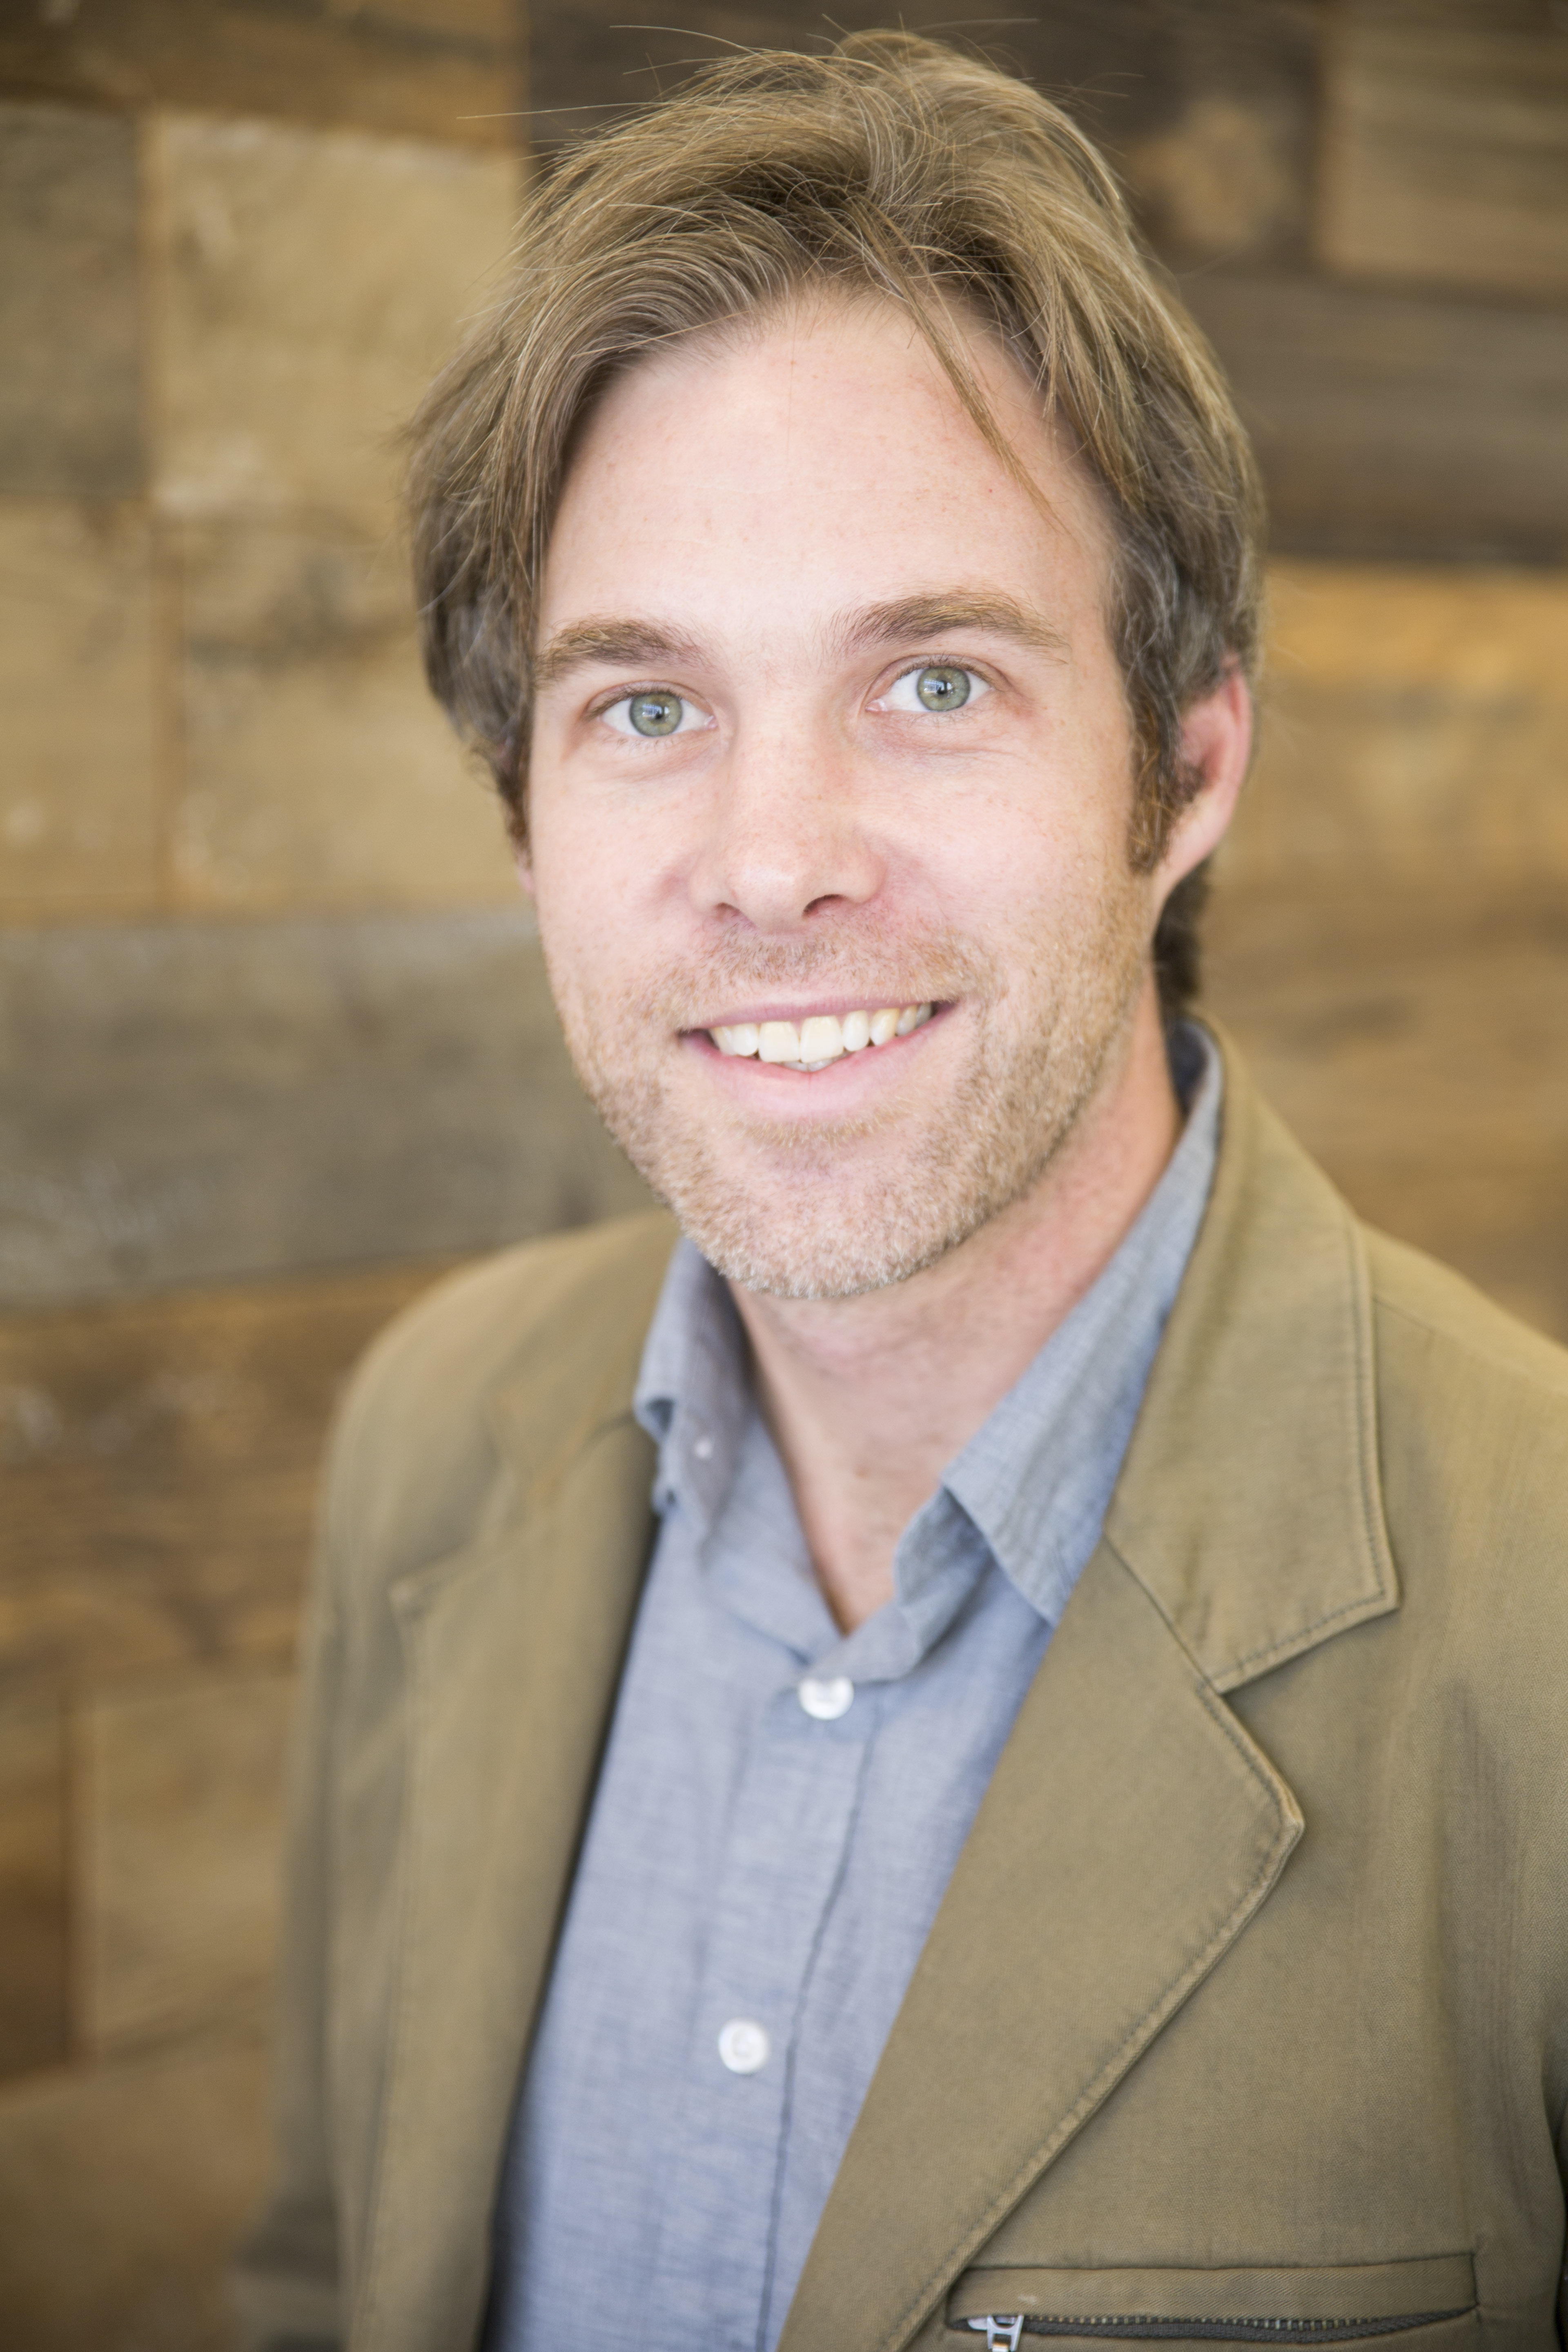
M 1150 941 L 1246 767 L 1229 682 L 1187 715 L 1206 788 L 1131 870 L 1098 494 L 1011 360 L 973 358 L 1037 496 L 900 313 L 830 301 L 623 376 L 543 583 L 541 647 L 611 621 L 665 647 L 538 699 L 524 882 L 567 1035 L 736 1287 L 844 1623 L 1159 1178 Z M 980 619 L 844 633 L 922 597 Z M 961 708 L 922 706 L 931 666 L 971 680 Z M 679 727 L 639 734 L 637 689 L 679 696 Z M 929 1025 L 811 1077 L 705 1037 L 926 1000 Z

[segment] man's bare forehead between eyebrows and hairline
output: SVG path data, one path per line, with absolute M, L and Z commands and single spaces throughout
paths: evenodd
M 893 303 L 797 303 L 642 360 L 581 433 L 543 628 L 632 602 L 778 630 L 933 581 L 1100 604 L 1093 482 L 1006 350 L 978 329 L 966 350 L 1016 466 Z

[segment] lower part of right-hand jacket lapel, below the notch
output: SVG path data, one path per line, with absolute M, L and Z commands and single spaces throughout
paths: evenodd
M 905 2343 L 1241 1933 L 1300 1825 L 1103 1545 L 959 1856 L 780 2352 Z

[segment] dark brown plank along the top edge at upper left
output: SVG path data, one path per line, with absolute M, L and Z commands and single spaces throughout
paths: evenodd
M 510 146 L 517 0 L 80 0 L 0 16 L 0 89 Z

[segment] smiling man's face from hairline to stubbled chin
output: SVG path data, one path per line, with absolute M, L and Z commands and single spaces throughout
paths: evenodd
M 527 873 L 567 1040 L 705 1256 L 778 1296 L 903 1279 L 1020 1200 L 1150 985 L 1107 527 L 973 360 L 1039 496 L 896 308 L 825 301 L 623 376 L 550 543 Z

